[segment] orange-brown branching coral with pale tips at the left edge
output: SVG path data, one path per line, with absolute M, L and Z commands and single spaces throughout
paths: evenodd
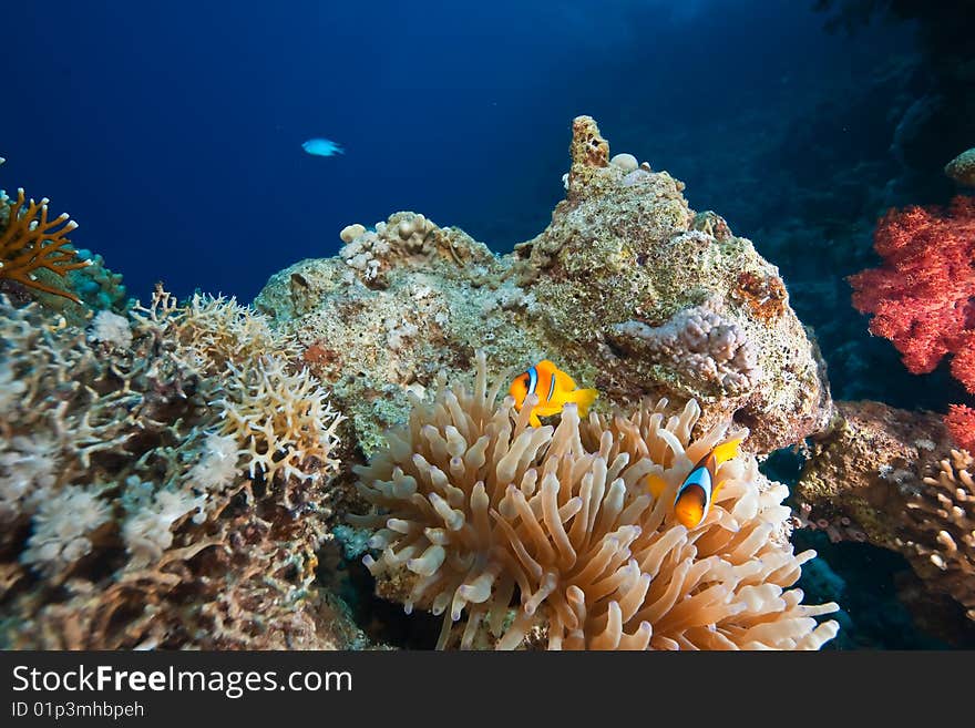
M 66 247 L 71 243 L 66 235 L 78 223 L 66 214 L 48 219 L 49 202 L 47 197 L 39 203 L 27 201 L 22 188 L 17 191 L 16 202 L 4 201 L 7 223 L 0 232 L 0 278 L 80 303 L 70 290 L 38 280 L 35 275 L 45 269 L 64 276 L 69 270 L 92 265 L 91 260 L 78 260 L 75 252 Z

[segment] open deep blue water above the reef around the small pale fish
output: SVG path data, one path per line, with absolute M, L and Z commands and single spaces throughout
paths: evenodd
M 722 181 L 906 38 L 851 43 L 791 0 L 53 0 L 6 13 L 0 186 L 74 215 L 76 243 L 131 295 L 163 280 L 243 300 L 333 254 L 345 225 L 398 209 L 496 250 L 534 236 L 579 113 L 614 151 L 687 182 L 695 208 L 753 234 L 759 201 Z M 835 132 L 823 143 L 864 136 Z M 309 156 L 314 136 L 347 153 Z

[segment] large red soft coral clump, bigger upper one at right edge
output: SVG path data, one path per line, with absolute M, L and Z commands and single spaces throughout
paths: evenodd
M 890 339 L 912 373 L 953 353 L 952 373 L 975 393 L 975 197 L 948 211 L 892 209 L 876 227 L 885 265 L 850 276 L 853 306 Z

